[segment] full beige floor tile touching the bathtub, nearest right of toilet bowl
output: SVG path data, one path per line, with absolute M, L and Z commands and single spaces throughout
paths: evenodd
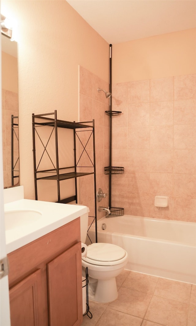
M 159 277 L 136 272 L 130 272 L 123 283 L 123 287 L 145 292 L 154 293 Z

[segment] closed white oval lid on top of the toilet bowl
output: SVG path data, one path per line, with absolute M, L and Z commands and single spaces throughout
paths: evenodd
M 126 252 L 115 244 L 95 243 L 87 247 L 87 258 L 97 261 L 115 261 L 122 259 Z

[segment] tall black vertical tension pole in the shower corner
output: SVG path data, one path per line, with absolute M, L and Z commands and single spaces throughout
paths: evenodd
M 111 90 L 111 84 L 112 84 L 112 80 L 111 80 L 111 73 L 112 73 L 112 44 L 110 44 L 110 93 L 112 94 L 112 90 Z M 110 111 L 112 111 L 112 107 L 111 107 L 111 99 L 112 99 L 112 96 L 110 96 Z M 110 154 L 109 154 L 109 166 L 110 166 L 110 170 L 111 170 L 111 147 L 112 147 L 112 115 L 110 114 L 109 115 L 110 117 L 110 125 L 109 125 L 109 129 L 110 129 Z M 109 173 L 109 207 L 111 209 L 111 172 Z

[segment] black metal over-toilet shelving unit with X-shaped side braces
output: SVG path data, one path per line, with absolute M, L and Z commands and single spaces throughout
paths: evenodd
M 52 116 L 52 118 L 51 118 Z M 33 123 L 33 162 L 34 162 L 34 183 L 35 183 L 35 200 L 38 200 L 37 195 L 37 181 L 38 180 L 56 180 L 57 181 L 57 193 L 58 193 L 58 201 L 59 203 L 70 203 L 72 201 L 78 202 L 78 194 L 77 194 L 77 178 L 81 176 L 86 176 L 93 174 L 94 175 L 94 191 L 95 191 L 95 216 L 93 222 L 95 221 L 96 225 L 96 242 L 97 242 L 97 202 L 96 202 L 96 163 L 95 163 L 95 124 L 94 120 L 86 121 L 86 122 L 69 122 L 57 119 L 57 110 L 52 113 L 45 114 L 32 114 L 32 123 Z M 43 128 L 46 126 L 51 127 L 51 132 L 48 135 L 47 141 L 43 141 Z M 40 128 L 42 128 L 42 132 L 40 132 Z M 59 149 L 58 149 L 58 128 L 64 129 L 72 129 L 73 130 L 73 144 L 74 144 L 74 162 L 72 166 L 59 166 Z M 84 139 L 82 137 L 83 132 L 88 131 L 88 136 Z M 80 134 L 81 132 L 81 134 Z M 49 151 L 47 150 L 47 146 L 51 141 L 52 137 L 55 138 L 55 161 Z M 87 139 L 87 140 L 86 140 Z M 36 141 L 40 141 L 43 145 L 43 153 L 39 156 L 39 159 L 36 157 Z M 92 141 L 93 144 L 93 158 L 91 159 L 88 155 L 87 147 L 89 143 Z M 68 144 L 69 139 L 64 139 L 64 149 L 66 150 L 66 144 Z M 76 143 L 80 144 L 81 154 L 79 155 L 76 152 Z M 81 166 L 81 157 L 86 155 L 88 158 L 89 165 Z M 52 164 L 52 169 L 40 170 L 39 166 L 43 160 L 44 155 L 47 155 L 50 164 Z M 82 169 L 82 172 L 79 171 Z M 69 172 L 65 172 L 69 170 Z M 70 170 L 72 170 L 70 172 Z M 85 170 L 85 171 L 84 171 Z M 90 170 L 90 171 L 88 171 Z M 75 194 L 71 197 L 61 198 L 60 195 L 60 182 L 62 180 L 75 179 Z M 92 222 L 92 223 L 93 223 Z

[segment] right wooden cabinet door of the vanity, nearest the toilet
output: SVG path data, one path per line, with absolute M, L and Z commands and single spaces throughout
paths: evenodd
M 47 264 L 50 326 L 82 323 L 81 243 Z

